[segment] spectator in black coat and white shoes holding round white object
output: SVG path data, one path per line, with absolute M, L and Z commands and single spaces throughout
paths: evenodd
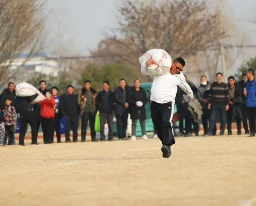
M 140 79 L 134 80 L 134 87 L 131 87 L 127 93 L 127 101 L 129 104 L 129 113 L 131 114 L 131 140 L 136 140 L 137 121 L 140 120 L 140 127 L 142 131 L 142 139 L 148 139 L 146 136 L 146 110 L 145 104 L 148 102 L 145 90 L 140 87 Z

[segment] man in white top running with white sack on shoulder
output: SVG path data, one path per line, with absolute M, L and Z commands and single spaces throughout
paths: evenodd
M 165 65 L 167 59 L 166 56 L 168 57 L 168 55 L 166 55 L 165 52 L 162 52 L 163 55 L 161 57 L 159 54 L 154 54 L 154 52 L 159 53 L 159 49 L 152 50 L 148 51 L 147 58 L 144 58 L 146 52 L 143 55 L 144 57 L 139 58 L 139 61 L 142 74 L 152 75 L 152 73 L 154 73 L 150 95 L 151 119 L 163 145 L 161 148 L 163 157 L 169 158 L 172 154 L 171 146 L 175 144 L 172 129 L 172 116 L 174 113 L 177 86 L 179 86 L 191 99 L 194 97 L 194 94 L 189 87 L 189 84 L 186 83 L 184 75 L 181 73 L 185 66 L 184 59 L 179 57 L 172 61 L 171 65 Z M 150 56 L 149 54 L 152 55 Z M 160 64 L 158 67 L 154 65 L 157 65 L 157 62 L 161 63 L 160 68 Z M 153 70 L 152 67 L 154 66 L 157 67 L 157 69 Z M 166 66 L 168 66 L 168 68 Z

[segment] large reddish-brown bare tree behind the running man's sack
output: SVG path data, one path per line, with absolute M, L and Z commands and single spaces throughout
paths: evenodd
M 171 57 L 188 57 L 212 48 L 227 36 L 206 1 L 126 0 L 118 11 L 119 35 L 100 42 L 96 53 L 113 55 L 135 67 L 138 56 L 149 49 L 164 49 Z

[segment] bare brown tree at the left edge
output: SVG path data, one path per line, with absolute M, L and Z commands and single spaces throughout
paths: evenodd
M 44 1 L 0 1 L 0 85 L 16 80 L 24 73 L 12 64 L 26 52 L 22 65 L 40 50 L 40 32 L 44 27 Z

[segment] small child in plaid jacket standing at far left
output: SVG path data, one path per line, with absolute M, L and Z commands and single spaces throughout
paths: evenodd
M 5 124 L 5 137 L 4 142 L 7 141 L 7 137 L 9 136 L 8 145 L 13 145 L 14 142 L 14 128 L 16 125 L 16 110 L 15 107 L 11 105 L 12 100 L 9 98 L 5 99 L 5 109 L 3 110 L 4 115 L 4 124 Z

